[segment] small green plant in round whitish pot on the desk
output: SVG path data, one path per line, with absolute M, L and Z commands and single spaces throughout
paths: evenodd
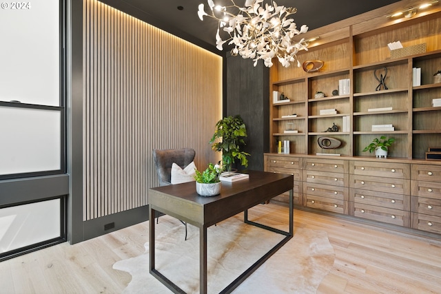
M 223 167 L 220 165 L 208 164 L 207 169 L 201 173 L 195 169 L 196 174 L 194 179 L 196 180 L 196 192 L 201 196 L 215 196 L 220 193 L 220 180 L 219 176 L 223 171 Z

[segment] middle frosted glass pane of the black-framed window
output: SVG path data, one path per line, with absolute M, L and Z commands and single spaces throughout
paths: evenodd
M 61 111 L 0 106 L 0 175 L 61 169 Z

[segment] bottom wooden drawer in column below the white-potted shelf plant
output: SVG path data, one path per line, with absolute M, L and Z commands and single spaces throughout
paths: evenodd
M 388 224 L 397 224 L 402 227 L 410 226 L 410 211 L 378 207 L 369 204 L 349 202 L 351 213 L 358 218 L 377 220 Z

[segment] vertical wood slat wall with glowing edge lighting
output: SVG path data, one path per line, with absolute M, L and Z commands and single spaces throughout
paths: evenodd
M 84 0 L 83 220 L 147 204 L 152 149 L 209 139 L 222 116 L 222 58 L 99 1 Z

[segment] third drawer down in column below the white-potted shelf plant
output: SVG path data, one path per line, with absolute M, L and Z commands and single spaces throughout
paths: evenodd
M 349 189 L 349 201 L 407 211 L 411 206 L 410 196 L 362 189 Z

